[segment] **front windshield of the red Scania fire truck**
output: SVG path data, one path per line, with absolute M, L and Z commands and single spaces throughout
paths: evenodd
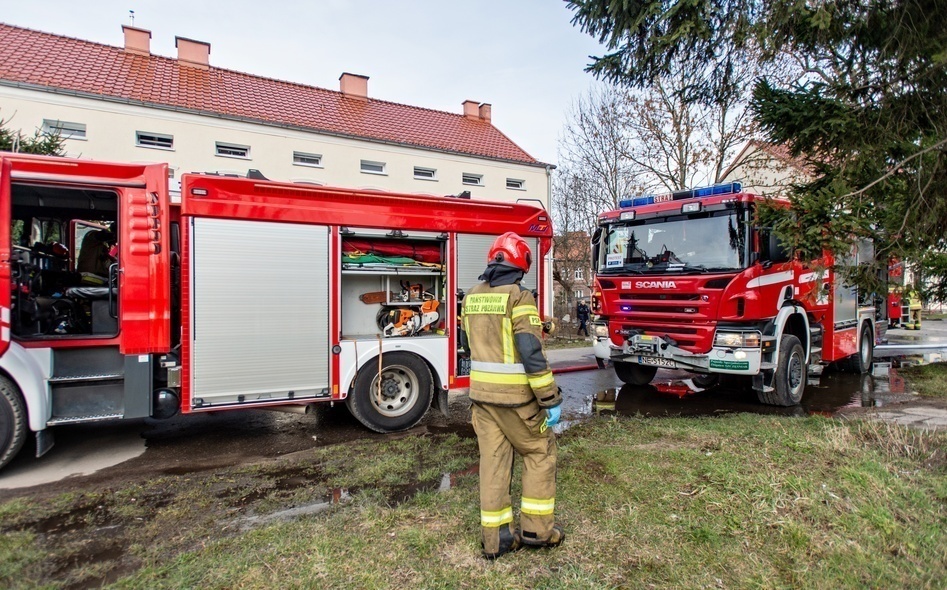
M 710 273 L 746 268 L 747 223 L 740 209 L 609 225 L 599 274 Z

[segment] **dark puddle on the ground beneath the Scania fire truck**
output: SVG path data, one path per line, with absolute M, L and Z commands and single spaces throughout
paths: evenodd
M 710 389 L 679 378 L 656 381 L 647 386 L 625 385 L 603 389 L 591 397 L 594 413 L 634 416 L 715 416 L 733 412 L 805 416 L 834 416 L 844 408 L 880 407 L 913 397 L 905 390 L 896 368 L 882 365 L 874 375 L 826 372 L 810 376 L 798 406 L 789 408 L 760 404 L 747 383 L 723 381 Z M 567 427 L 567 426 L 566 426 Z

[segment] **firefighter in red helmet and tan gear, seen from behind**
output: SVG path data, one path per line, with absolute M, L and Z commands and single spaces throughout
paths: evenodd
M 470 351 L 471 421 L 480 447 L 480 527 L 488 559 L 520 544 L 556 547 L 556 438 L 562 397 L 546 361 L 536 299 L 520 286 L 532 256 L 523 238 L 497 238 L 487 269 L 463 302 Z M 520 529 L 510 497 L 513 452 L 523 457 Z

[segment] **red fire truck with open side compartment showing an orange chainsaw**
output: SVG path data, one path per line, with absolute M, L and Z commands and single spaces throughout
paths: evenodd
M 98 420 L 345 401 L 410 428 L 468 386 L 458 304 L 495 237 L 551 245 L 523 203 L 188 174 L 172 204 L 167 178 L 0 157 L 0 466 Z

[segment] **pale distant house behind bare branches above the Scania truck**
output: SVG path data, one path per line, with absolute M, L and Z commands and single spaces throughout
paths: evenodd
M 720 182 L 738 180 L 747 192 L 776 195 L 791 183 L 810 178 L 811 171 L 805 163 L 794 158 L 785 146 L 751 140 L 733 158 Z

